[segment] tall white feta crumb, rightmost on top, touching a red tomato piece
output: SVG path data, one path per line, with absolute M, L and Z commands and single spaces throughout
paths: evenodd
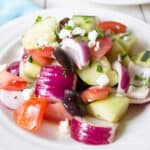
M 98 36 L 98 33 L 95 30 L 89 32 L 89 34 L 88 34 L 88 40 L 89 40 L 88 46 L 89 46 L 89 48 L 92 48 L 96 44 L 97 36 Z

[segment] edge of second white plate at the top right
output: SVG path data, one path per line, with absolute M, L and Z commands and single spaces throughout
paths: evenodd
M 89 0 L 89 1 L 108 5 L 138 5 L 150 3 L 150 0 Z

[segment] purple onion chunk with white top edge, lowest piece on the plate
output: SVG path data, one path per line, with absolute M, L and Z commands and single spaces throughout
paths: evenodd
M 114 140 L 117 126 L 94 118 L 74 117 L 71 120 L 71 137 L 85 144 L 109 144 Z

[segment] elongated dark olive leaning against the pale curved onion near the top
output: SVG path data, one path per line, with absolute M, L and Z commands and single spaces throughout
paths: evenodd
M 53 52 L 56 60 L 67 70 L 74 72 L 74 64 L 72 59 L 61 48 L 56 48 Z

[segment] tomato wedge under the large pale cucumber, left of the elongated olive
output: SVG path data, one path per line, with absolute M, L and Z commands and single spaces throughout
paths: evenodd
M 45 66 L 51 63 L 53 50 L 54 49 L 52 47 L 44 47 L 38 50 L 27 50 L 27 52 L 38 64 Z

